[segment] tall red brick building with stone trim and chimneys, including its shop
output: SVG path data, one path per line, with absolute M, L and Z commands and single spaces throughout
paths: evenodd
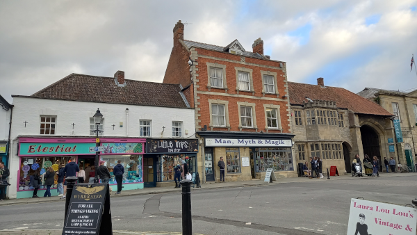
M 174 26 L 174 46 L 164 83 L 180 83 L 202 144 L 197 155 L 203 181 L 263 179 L 273 168 L 294 177 L 286 63 L 263 54 L 261 38 L 246 51 L 238 40 L 226 47 L 184 40 L 184 25 Z

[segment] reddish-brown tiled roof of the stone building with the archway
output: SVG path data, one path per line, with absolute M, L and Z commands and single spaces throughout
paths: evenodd
M 308 97 L 312 100 L 336 102 L 338 108 L 346 108 L 354 113 L 392 116 L 378 104 L 344 88 L 288 82 L 288 91 L 290 93 L 290 103 L 293 105 L 302 105 L 303 102 L 308 102 L 306 99 Z

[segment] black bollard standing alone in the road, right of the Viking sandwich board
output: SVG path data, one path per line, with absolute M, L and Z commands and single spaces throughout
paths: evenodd
M 181 180 L 182 201 L 183 201 L 183 235 L 193 234 L 193 221 L 191 218 L 191 184 L 188 179 Z

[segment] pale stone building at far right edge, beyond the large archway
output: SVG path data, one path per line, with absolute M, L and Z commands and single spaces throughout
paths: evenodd
M 406 164 L 415 170 L 416 141 L 417 141 L 417 90 L 402 92 L 395 90 L 383 90 L 378 88 L 365 88 L 357 93 L 361 97 L 369 99 L 389 113 L 395 115 L 398 120 L 402 138 L 396 138 L 395 154 L 398 163 Z

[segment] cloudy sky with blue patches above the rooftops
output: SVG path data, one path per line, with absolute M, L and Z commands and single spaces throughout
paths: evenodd
M 161 82 L 172 29 L 287 62 L 288 80 L 417 88 L 417 0 L 0 1 L 0 95 L 32 95 L 71 73 Z

